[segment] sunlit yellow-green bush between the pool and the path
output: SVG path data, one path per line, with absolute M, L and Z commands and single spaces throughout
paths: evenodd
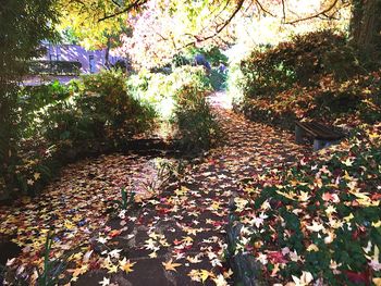
M 136 98 L 155 107 L 161 123 L 172 123 L 167 133 L 181 138 L 182 148 L 199 151 L 216 144 L 219 128 L 206 101 L 211 85 L 204 67 L 184 65 L 170 74 L 140 72 L 128 85 Z

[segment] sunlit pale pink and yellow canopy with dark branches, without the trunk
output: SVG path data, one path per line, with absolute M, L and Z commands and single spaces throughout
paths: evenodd
M 121 50 L 132 54 L 138 66 L 152 67 L 187 48 L 229 48 L 249 37 L 266 42 L 261 30 L 269 18 L 273 30 L 288 35 L 303 32 L 300 26 L 332 27 L 343 22 L 342 12 L 347 8 L 348 3 L 325 0 L 193 1 L 186 5 L 182 1 L 149 1 L 139 14 L 127 16 L 133 35 L 123 36 Z M 281 39 L 284 37 L 270 40 Z

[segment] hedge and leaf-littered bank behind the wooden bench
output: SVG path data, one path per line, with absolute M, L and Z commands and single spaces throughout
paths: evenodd
M 339 124 L 349 116 L 353 125 L 380 120 L 380 72 L 332 32 L 255 51 L 239 72 L 241 108 L 256 120 L 286 127 L 302 119 Z

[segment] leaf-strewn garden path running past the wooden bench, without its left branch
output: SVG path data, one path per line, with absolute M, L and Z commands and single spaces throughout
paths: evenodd
M 143 208 L 114 239 L 113 249 L 123 249 L 133 271 L 115 276 L 93 273 L 94 281 L 111 277 L 120 285 L 231 284 L 232 273 L 222 259 L 230 199 L 245 191 L 242 179 L 284 170 L 307 150 L 294 144 L 292 134 L 232 112 L 224 92 L 216 92 L 209 100 L 228 141 L 188 170 L 182 187 L 170 186 Z M 85 285 L 87 278 L 78 282 Z

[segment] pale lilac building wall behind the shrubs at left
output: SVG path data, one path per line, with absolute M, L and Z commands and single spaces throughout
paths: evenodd
M 98 73 L 105 67 L 106 49 L 89 51 L 77 45 L 45 45 L 47 53 L 40 60 L 78 61 L 82 64 L 81 73 Z M 93 59 L 93 60 L 91 60 Z M 109 55 L 110 64 L 123 58 Z

